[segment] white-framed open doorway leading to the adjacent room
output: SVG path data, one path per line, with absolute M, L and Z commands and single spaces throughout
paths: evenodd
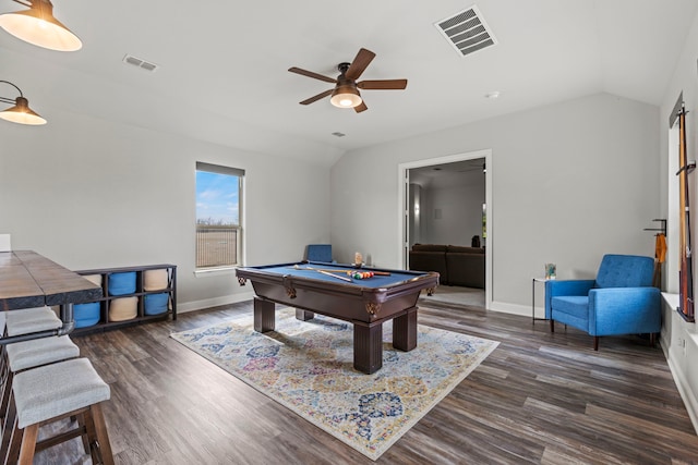
M 478 215 L 479 223 L 473 224 L 472 218 L 461 221 L 447 219 L 450 221 L 448 224 L 453 228 L 459 224 L 469 224 L 469 227 L 462 228 L 464 231 L 460 236 L 457 236 L 455 232 L 452 232 L 449 236 L 448 224 L 446 228 L 443 228 L 443 224 L 435 227 L 440 220 L 442 220 L 442 223 L 447 223 L 443 221 L 447 209 L 438 208 L 433 201 L 430 203 L 430 200 L 422 195 L 423 193 L 420 192 L 420 188 L 414 186 L 417 183 L 413 181 L 423 180 L 425 175 L 433 175 L 433 173 L 438 173 L 440 171 L 449 171 L 450 174 L 447 175 L 447 178 L 452 180 L 458 179 L 459 176 L 484 176 L 484 204 L 481 207 L 481 213 Z M 398 175 L 400 186 L 399 198 L 404 211 L 404 215 L 400 215 L 401 221 L 399 224 L 402 268 L 409 268 L 409 250 L 416 242 L 429 243 L 430 240 L 433 238 L 434 241 L 432 241 L 432 243 L 436 243 L 440 242 L 440 238 L 443 238 L 443 242 L 445 242 L 444 245 L 471 246 L 471 236 L 479 235 L 481 245 L 484 247 L 485 256 L 484 307 L 490 308 L 492 303 L 492 250 L 494 245 L 492 228 L 492 212 L 494 211 L 494 205 L 492 203 L 492 150 L 478 150 L 401 163 L 398 166 Z M 431 227 L 425 219 L 426 216 L 429 216 Z M 426 231 L 426 228 L 431 228 L 431 230 Z M 455 293 L 457 291 L 456 286 L 453 289 L 448 287 L 449 286 L 443 286 L 443 298 L 450 298 L 447 294 L 453 294 L 453 298 L 457 299 L 458 297 Z

